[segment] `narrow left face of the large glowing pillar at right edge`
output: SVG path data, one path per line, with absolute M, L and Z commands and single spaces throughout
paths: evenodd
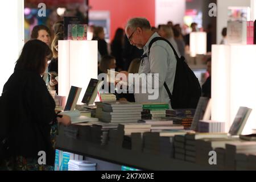
M 212 46 L 212 120 L 230 127 L 230 47 Z

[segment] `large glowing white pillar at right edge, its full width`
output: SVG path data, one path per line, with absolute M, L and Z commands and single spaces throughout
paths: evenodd
M 256 45 L 212 46 L 212 120 L 228 131 L 240 106 L 253 109 L 243 134 L 256 128 Z

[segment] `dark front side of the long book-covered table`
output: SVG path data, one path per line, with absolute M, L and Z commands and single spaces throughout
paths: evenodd
M 66 137 L 64 134 L 61 134 L 61 132 L 56 140 L 56 148 L 59 150 L 142 170 L 218 170 L 216 165 L 211 166 L 209 164 L 208 166 L 203 166 L 183 160 L 168 158 L 168 156 L 133 151 L 113 145 L 100 146 L 99 144 L 86 142 L 84 140 Z

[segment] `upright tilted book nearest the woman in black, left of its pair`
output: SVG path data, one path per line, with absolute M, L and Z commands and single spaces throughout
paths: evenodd
M 82 88 L 80 88 L 80 87 L 71 86 L 71 89 L 69 90 L 69 94 L 68 94 L 68 100 L 65 105 L 64 111 L 75 110 L 81 90 L 82 90 Z

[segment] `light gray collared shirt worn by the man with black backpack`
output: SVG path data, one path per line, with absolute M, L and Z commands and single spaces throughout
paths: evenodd
M 144 54 L 147 54 L 148 56 L 148 46 L 152 39 L 155 37 L 158 37 L 159 35 L 155 32 L 151 38 L 148 40 L 146 45 L 143 47 Z M 152 90 L 151 92 L 146 93 L 134 93 L 135 101 L 136 102 L 166 102 L 170 105 L 170 98 L 168 96 L 168 93 L 166 89 L 164 88 L 163 84 L 164 81 L 166 81 L 166 84 L 168 85 L 168 88 L 170 89 L 170 92 L 172 93 L 173 87 L 174 87 L 174 77 L 175 77 L 175 71 L 176 71 L 176 57 L 174 55 L 174 51 L 172 51 L 172 48 L 170 45 L 164 41 L 158 40 L 155 43 L 152 44 L 150 49 L 150 57 L 144 57 L 140 67 L 139 67 L 139 76 L 141 76 L 142 73 L 158 73 L 159 77 L 157 75 L 152 75 L 150 77 L 143 77 L 141 83 L 147 83 L 147 85 L 152 85 L 154 88 L 153 90 L 158 90 L 159 96 L 158 98 L 154 100 L 149 100 L 148 96 L 152 96 Z M 158 81 L 159 86 L 155 86 L 154 81 L 150 78 L 155 78 Z M 151 81 L 150 81 L 151 80 Z M 171 105 L 170 105 L 171 106 Z

